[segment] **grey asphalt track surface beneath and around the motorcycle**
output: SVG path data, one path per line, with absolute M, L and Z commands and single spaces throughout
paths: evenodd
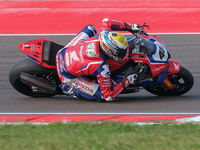
M 72 35 L 0 36 L 0 113 L 200 113 L 200 35 L 159 35 L 167 45 L 172 60 L 178 61 L 194 76 L 194 86 L 178 97 L 159 97 L 141 90 L 120 95 L 113 102 L 96 103 L 66 96 L 31 98 L 15 91 L 9 83 L 11 67 L 26 57 L 18 45 L 36 38 L 67 44 Z

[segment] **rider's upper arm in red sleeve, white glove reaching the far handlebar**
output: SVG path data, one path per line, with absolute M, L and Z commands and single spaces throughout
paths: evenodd
M 140 30 L 138 24 L 130 24 L 128 22 L 121 22 L 117 20 L 111 20 L 108 18 L 103 19 L 100 32 L 102 31 L 129 31 L 136 33 Z

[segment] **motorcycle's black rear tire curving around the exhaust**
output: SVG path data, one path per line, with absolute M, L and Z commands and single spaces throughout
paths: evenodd
M 55 94 L 52 93 L 34 93 L 31 86 L 24 84 L 20 81 L 20 73 L 25 72 L 34 75 L 49 75 L 53 70 L 44 68 L 30 59 L 24 59 L 17 62 L 9 72 L 10 84 L 20 93 L 30 97 L 51 97 Z

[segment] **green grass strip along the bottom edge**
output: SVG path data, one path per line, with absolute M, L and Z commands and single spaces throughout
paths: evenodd
M 199 150 L 199 124 L 0 125 L 0 150 Z

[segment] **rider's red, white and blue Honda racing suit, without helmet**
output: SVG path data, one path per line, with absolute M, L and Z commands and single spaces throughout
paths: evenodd
M 130 25 L 130 24 L 129 24 Z M 123 22 L 104 19 L 100 32 L 127 31 Z M 95 27 L 88 26 L 81 30 L 75 38 L 56 55 L 57 72 L 63 86 L 73 87 L 76 97 L 87 99 L 115 99 L 126 86 L 123 78 L 117 84 L 110 78 L 107 60 L 100 48 L 99 34 L 95 35 Z M 99 84 L 87 79 L 84 75 L 94 75 Z

